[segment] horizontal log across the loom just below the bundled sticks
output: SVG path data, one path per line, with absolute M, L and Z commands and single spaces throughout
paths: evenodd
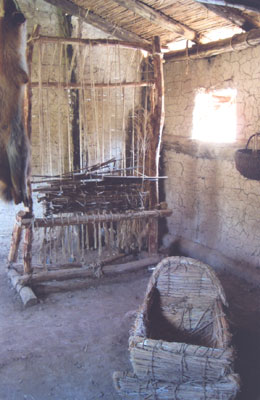
M 122 221 L 127 219 L 140 219 L 140 218 L 159 218 L 167 217 L 172 214 L 171 210 L 147 210 L 138 212 L 129 212 L 121 214 L 91 214 L 91 215 L 77 215 L 68 218 L 54 217 L 54 218 L 24 218 L 22 220 L 23 226 L 29 226 L 32 223 L 36 228 L 52 227 L 52 226 L 68 226 L 88 224 L 89 222 L 111 222 Z

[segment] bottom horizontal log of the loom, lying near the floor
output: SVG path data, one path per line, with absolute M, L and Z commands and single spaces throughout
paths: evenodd
M 161 257 L 157 254 L 153 257 L 144 258 L 138 261 L 132 261 L 125 264 L 117 265 L 106 265 L 102 268 L 104 276 L 120 275 L 127 272 L 139 271 L 142 268 L 146 268 L 149 265 L 155 265 L 160 261 Z M 55 270 L 55 271 L 44 271 L 33 273 L 31 275 L 22 275 L 19 277 L 20 285 L 35 285 L 42 282 L 48 281 L 64 281 L 68 279 L 84 279 L 84 278 L 95 278 L 95 272 L 92 268 L 82 269 L 67 269 L 67 270 Z

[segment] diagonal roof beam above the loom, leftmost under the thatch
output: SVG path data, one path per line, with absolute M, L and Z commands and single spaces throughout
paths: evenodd
M 138 42 L 143 45 L 147 45 L 149 42 L 142 39 L 140 36 L 135 33 L 129 32 L 124 28 L 120 28 L 119 26 L 115 26 L 111 22 L 101 18 L 99 15 L 94 14 L 93 12 L 87 10 L 84 7 L 78 6 L 70 0 L 44 0 L 46 3 L 52 4 L 60 8 L 64 13 L 73 15 L 75 17 L 81 18 L 82 21 L 86 22 L 102 30 L 105 33 L 108 33 L 111 36 L 116 37 L 120 40 L 130 41 L 130 42 Z

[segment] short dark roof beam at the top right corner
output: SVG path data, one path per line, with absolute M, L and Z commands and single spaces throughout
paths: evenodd
M 213 4 L 203 4 L 203 6 L 219 17 L 222 17 L 227 21 L 232 22 L 232 24 L 239 26 L 239 28 L 246 32 L 250 31 L 251 29 L 259 28 L 259 25 L 256 25 L 253 19 L 248 15 L 244 15 L 241 10 L 230 7 L 215 6 Z

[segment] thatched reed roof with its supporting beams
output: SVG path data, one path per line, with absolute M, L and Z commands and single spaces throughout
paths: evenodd
M 123 40 L 168 45 L 182 39 L 216 40 L 212 32 L 260 27 L 258 0 L 46 0 Z

